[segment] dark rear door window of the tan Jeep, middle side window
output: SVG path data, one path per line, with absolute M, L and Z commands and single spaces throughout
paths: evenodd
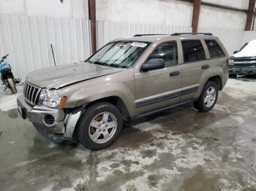
M 184 40 L 181 42 L 183 48 L 184 63 L 203 61 L 206 53 L 200 40 Z

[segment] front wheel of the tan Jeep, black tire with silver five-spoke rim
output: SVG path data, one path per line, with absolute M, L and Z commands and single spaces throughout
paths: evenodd
M 123 126 L 121 112 L 108 102 L 89 106 L 78 120 L 76 136 L 83 146 L 105 149 L 118 138 Z

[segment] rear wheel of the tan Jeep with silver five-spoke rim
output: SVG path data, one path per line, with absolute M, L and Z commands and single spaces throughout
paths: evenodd
M 218 86 L 216 82 L 209 81 L 203 87 L 203 91 L 194 106 L 199 112 L 209 112 L 214 108 L 218 99 Z

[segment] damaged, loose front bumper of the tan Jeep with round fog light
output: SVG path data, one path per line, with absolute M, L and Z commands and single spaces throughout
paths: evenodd
M 56 135 L 62 139 L 72 139 L 75 125 L 81 111 L 66 114 L 63 109 L 51 109 L 47 106 L 31 106 L 26 103 L 23 95 L 17 98 L 18 113 L 25 120 L 29 119 L 42 134 Z

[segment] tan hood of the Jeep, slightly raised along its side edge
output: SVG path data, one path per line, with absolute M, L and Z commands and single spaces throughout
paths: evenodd
M 102 77 L 123 70 L 94 63 L 70 63 L 32 71 L 26 76 L 26 82 L 39 87 L 47 87 L 48 89 L 59 89 L 76 82 Z

